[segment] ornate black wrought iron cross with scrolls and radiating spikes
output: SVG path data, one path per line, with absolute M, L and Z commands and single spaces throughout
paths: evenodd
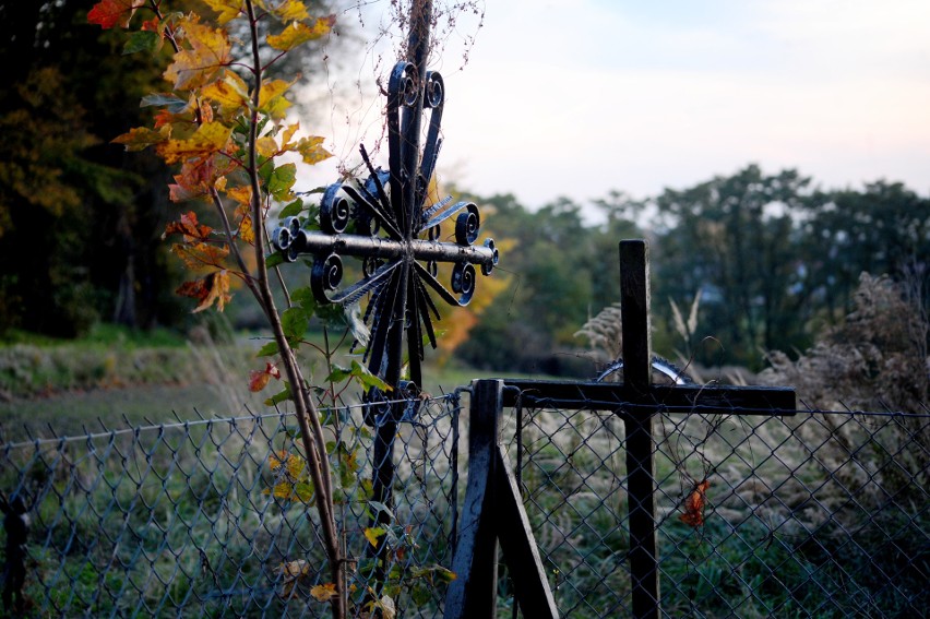
M 477 273 L 489 275 L 498 263 L 493 239 L 475 246 L 480 227 L 478 209 L 446 198 L 426 206 L 439 156 L 445 88 L 442 76 L 426 70 L 431 2 L 414 2 L 409 60 L 394 66 L 388 86 L 389 169 L 375 169 L 363 146 L 365 182 L 334 183 L 320 204 L 320 229 L 288 217 L 272 234 L 272 243 L 295 261 L 313 255 L 311 288 L 318 302 L 350 305 L 370 295 L 363 320 L 371 323 L 366 350 L 369 369 L 397 386 L 403 366 L 404 335 L 409 378 L 422 386 L 424 341 L 436 347 L 432 316 L 439 310 L 430 290 L 453 306 L 465 306 L 475 290 Z M 420 151 L 426 110 L 429 126 Z M 454 242 L 441 240 L 441 224 L 455 217 Z M 427 238 L 421 238 L 426 235 Z M 343 259 L 361 261 L 361 278 L 341 288 Z M 438 263 L 453 264 L 452 290 L 437 278 Z

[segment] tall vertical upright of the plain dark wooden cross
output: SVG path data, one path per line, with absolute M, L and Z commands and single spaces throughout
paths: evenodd
M 655 524 L 655 441 L 649 324 L 649 255 L 644 240 L 620 242 L 620 311 L 623 334 L 623 383 L 634 408 L 627 428 L 627 497 L 630 523 L 630 578 L 633 617 L 658 618 L 659 582 Z

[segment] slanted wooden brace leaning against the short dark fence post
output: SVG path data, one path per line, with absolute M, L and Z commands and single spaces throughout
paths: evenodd
M 503 447 L 497 447 L 497 456 L 498 539 L 513 580 L 514 597 L 524 617 L 556 619 L 559 617 L 556 598 L 546 579 L 536 537 L 529 527 L 516 477 Z

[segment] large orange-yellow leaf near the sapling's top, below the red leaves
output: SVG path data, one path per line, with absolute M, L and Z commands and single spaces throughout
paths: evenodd
M 190 91 L 213 82 L 233 58 L 233 45 L 223 28 L 213 29 L 188 19 L 178 24 L 190 46 L 175 55 L 165 79 L 178 91 Z

